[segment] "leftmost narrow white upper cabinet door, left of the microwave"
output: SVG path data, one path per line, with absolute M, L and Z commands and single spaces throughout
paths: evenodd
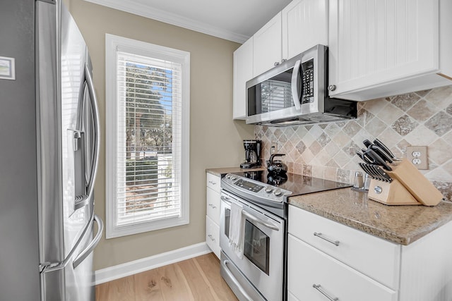
M 246 82 L 253 78 L 253 37 L 234 51 L 234 102 L 232 118 L 246 118 Z

